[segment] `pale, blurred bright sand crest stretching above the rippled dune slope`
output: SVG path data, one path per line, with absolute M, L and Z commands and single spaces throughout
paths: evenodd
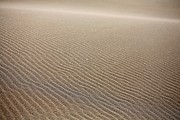
M 42 11 L 42 12 L 50 12 L 50 13 L 62 13 L 62 14 L 81 14 L 85 16 L 97 16 L 97 17 L 113 17 L 113 18 L 124 18 L 124 19 L 145 19 L 145 20 L 155 20 L 155 21 L 167 21 L 167 22 L 180 22 L 177 18 L 167 18 L 167 17 L 157 17 L 151 15 L 138 15 L 134 13 L 115 13 L 110 11 L 102 11 L 102 10 L 83 10 L 77 9 L 74 7 L 49 7 L 47 5 L 33 5 L 33 4 L 9 4 L 9 3 L 2 3 L 0 5 L 3 9 L 16 9 L 16 10 L 23 10 L 23 11 Z

